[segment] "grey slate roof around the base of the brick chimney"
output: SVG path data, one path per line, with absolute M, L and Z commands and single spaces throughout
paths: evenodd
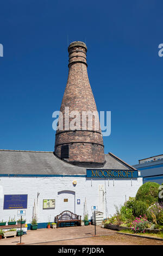
M 94 169 L 135 169 L 112 153 L 105 155 L 105 161 L 103 167 Z M 1 149 L 0 174 L 86 175 L 86 167 L 74 166 L 60 160 L 52 151 Z

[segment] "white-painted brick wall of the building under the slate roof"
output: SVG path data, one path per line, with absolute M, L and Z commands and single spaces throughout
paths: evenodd
M 73 181 L 77 181 L 77 185 L 73 186 Z M 8 221 L 11 218 L 17 217 L 17 209 L 3 210 L 4 194 L 28 194 L 28 209 L 26 209 L 26 223 L 32 220 L 32 211 L 34 199 L 37 200 L 37 192 L 40 193 L 38 198 L 38 223 L 48 222 L 48 217 L 51 216 L 51 222 L 54 221 L 54 216 L 60 214 L 61 210 L 72 210 L 75 208 L 75 213 L 82 215 L 84 201 L 86 197 L 87 210 L 89 211 L 89 219 L 91 219 L 91 206 L 98 205 L 98 210 L 104 209 L 105 202 L 108 208 L 108 214 L 115 213 L 114 205 L 121 205 L 125 199 L 134 197 L 137 190 L 142 185 L 142 178 L 134 180 L 130 179 L 90 179 L 84 177 L 0 177 L 0 220 Z M 100 189 L 99 189 L 100 187 Z M 102 189 L 104 191 L 102 191 Z M 73 191 L 70 194 L 58 194 L 59 191 Z M 106 193 L 105 193 L 106 192 Z M 101 198 L 104 195 L 104 203 L 102 205 Z M 64 203 L 64 198 L 69 198 L 68 203 Z M 43 210 L 43 199 L 55 199 L 55 209 Z M 74 200 L 73 200 L 74 198 Z M 106 198 L 106 200 L 105 200 Z M 80 199 L 80 205 L 77 204 L 77 199 Z M 72 205 L 73 204 L 73 205 Z

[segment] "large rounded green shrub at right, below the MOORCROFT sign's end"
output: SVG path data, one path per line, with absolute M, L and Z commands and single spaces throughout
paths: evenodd
M 137 191 L 135 199 L 146 202 L 148 206 L 158 202 L 159 186 L 156 182 L 146 182 Z

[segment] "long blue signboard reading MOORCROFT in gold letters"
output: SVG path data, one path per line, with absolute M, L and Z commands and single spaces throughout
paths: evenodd
M 87 178 L 132 179 L 138 177 L 137 170 L 86 169 Z

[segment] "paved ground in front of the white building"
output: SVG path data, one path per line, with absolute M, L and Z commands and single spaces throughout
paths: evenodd
M 116 231 L 93 225 L 58 229 L 28 230 L 22 236 L 25 245 L 163 245 L 163 241 L 117 234 Z M 93 237 L 92 237 L 93 236 Z M 0 240 L 0 245 L 17 245 L 20 237 Z

